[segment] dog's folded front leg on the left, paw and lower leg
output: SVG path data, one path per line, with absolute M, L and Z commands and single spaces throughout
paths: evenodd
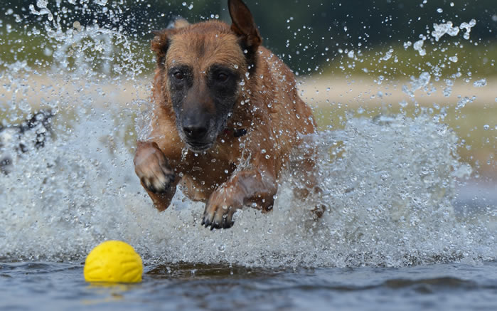
M 156 209 L 167 209 L 176 192 L 178 178 L 155 142 L 137 142 L 134 172 L 137 173 L 141 186 L 154 201 Z

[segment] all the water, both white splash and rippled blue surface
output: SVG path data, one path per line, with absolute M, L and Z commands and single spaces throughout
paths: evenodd
M 402 88 L 414 114 L 365 118 L 361 110 L 306 137 L 321 154 L 322 194 L 295 199 L 299 176 L 289 172 L 271 214 L 246 209 L 230 230 L 208 231 L 200 226 L 203 204 L 178 193 L 159 213 L 134 175 L 134 140 L 149 129 L 151 74 L 144 73 L 153 60 L 143 44 L 119 29 L 65 28 L 60 11 L 47 1 L 30 7 L 46 21 L 42 31 L 28 31 L 53 57 L 39 60 L 43 72 L 29 55 L 0 59 L 0 161 L 8 172 L 0 173 L 0 307 L 496 306 L 495 187 L 469 184 L 477 167 L 459 157 L 461 138 L 444 124 L 445 108 L 433 113 L 417 103 L 441 78 L 436 65 Z M 458 34 L 451 26 L 459 23 Z M 444 34 L 466 40 L 474 21 L 436 25 L 436 41 L 414 43 L 419 54 Z M 446 77 L 447 87 L 460 76 Z M 464 111 L 472 96 L 447 109 Z M 50 122 L 20 125 L 40 107 L 53 113 Z M 319 221 L 310 212 L 316 203 L 328 207 Z M 85 256 L 108 239 L 132 244 L 144 258 L 143 283 L 84 282 Z

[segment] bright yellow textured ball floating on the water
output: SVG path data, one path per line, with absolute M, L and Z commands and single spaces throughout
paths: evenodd
M 87 282 L 138 283 L 141 282 L 141 257 L 128 243 L 105 241 L 88 254 L 85 261 Z

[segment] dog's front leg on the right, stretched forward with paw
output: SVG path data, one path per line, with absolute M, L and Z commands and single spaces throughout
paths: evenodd
M 233 214 L 243 206 L 270 211 L 278 190 L 274 170 L 258 167 L 237 172 L 216 189 L 205 204 L 202 224 L 205 227 L 230 228 Z

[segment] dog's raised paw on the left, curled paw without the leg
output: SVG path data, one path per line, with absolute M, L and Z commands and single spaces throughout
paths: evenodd
M 134 172 L 137 173 L 141 185 L 154 194 L 169 191 L 176 178 L 164 153 L 155 142 L 138 144 L 137 153 L 134 155 Z

